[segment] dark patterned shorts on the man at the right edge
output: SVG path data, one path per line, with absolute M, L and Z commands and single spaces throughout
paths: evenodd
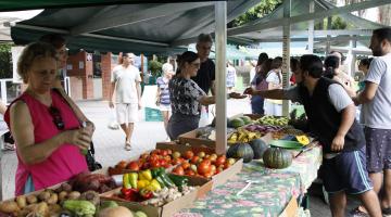
M 380 173 L 391 169 L 391 129 L 365 127 L 367 169 Z

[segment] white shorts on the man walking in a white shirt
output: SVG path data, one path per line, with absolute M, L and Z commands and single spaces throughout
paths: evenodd
M 119 125 L 136 123 L 138 120 L 137 103 L 117 103 L 115 104 L 117 122 Z

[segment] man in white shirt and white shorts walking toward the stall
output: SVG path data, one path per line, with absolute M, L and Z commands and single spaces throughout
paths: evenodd
M 125 150 L 130 151 L 131 135 L 141 108 L 141 77 L 134 66 L 134 53 L 124 53 L 122 64 L 114 67 L 111 78 L 110 107 L 116 108 L 117 122 L 125 132 Z M 115 101 L 113 101 L 113 99 Z

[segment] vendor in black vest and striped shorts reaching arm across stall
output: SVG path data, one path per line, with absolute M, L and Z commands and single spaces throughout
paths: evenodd
M 298 86 L 290 89 L 254 90 L 244 93 L 304 105 L 311 130 L 323 144 L 320 178 L 329 193 L 331 214 L 344 217 L 346 193 L 356 194 L 373 217 L 380 217 L 379 200 L 365 167 L 365 138 L 355 120 L 355 106 L 343 87 L 323 75 L 316 55 L 300 59 Z

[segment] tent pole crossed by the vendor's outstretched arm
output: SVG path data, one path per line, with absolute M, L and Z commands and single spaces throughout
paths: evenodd
M 283 17 L 291 15 L 291 0 L 283 0 Z M 282 27 L 282 87 L 289 88 L 290 82 L 290 23 Z M 282 115 L 289 116 L 290 101 L 282 101 Z

